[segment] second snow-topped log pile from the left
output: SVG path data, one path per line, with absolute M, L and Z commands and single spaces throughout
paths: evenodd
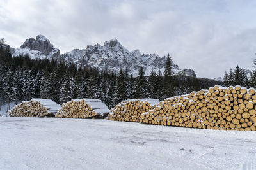
M 110 110 L 99 99 L 72 99 L 62 104 L 55 117 L 58 118 L 91 118 L 104 117 Z

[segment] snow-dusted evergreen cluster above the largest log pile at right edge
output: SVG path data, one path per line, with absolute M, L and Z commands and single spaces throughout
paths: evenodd
M 254 68 L 256 68 L 256 60 L 253 62 Z M 235 86 L 241 85 L 243 87 L 255 87 L 256 88 L 256 69 L 248 77 L 246 75 L 245 69 L 239 67 L 238 65 L 234 70 L 230 69 L 229 73 L 225 71 L 223 76 L 223 85 L 225 86 Z

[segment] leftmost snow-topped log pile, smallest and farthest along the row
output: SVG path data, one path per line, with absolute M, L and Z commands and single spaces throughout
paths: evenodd
M 8 112 L 11 117 L 54 117 L 61 108 L 60 104 L 49 99 L 36 99 L 22 101 Z

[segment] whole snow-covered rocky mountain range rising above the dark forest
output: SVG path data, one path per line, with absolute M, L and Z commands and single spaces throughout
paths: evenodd
M 60 50 L 54 48 L 49 39 L 38 35 L 36 39 L 26 39 L 20 48 L 12 49 L 12 55 L 28 54 L 31 58 L 49 58 L 58 61 L 64 60 L 67 64 L 74 63 L 79 66 L 97 67 L 100 71 L 117 72 L 120 69 L 128 69 L 130 74 L 136 76 L 142 66 L 145 70 L 145 76 L 149 76 L 152 69 L 155 71 L 164 71 L 166 56 L 159 57 L 157 54 L 141 54 L 140 50 L 129 52 L 117 39 L 106 41 L 104 45 L 87 45 L 85 49 L 74 49 L 71 52 L 60 54 Z M 175 74 L 195 76 L 192 69 L 181 70 L 179 66 L 172 62 Z

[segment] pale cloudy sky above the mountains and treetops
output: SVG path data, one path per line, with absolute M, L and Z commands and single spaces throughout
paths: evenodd
M 61 53 L 116 38 L 127 50 L 170 53 L 181 69 L 216 78 L 256 59 L 256 1 L 1 0 L 0 37 L 12 47 L 43 34 Z

